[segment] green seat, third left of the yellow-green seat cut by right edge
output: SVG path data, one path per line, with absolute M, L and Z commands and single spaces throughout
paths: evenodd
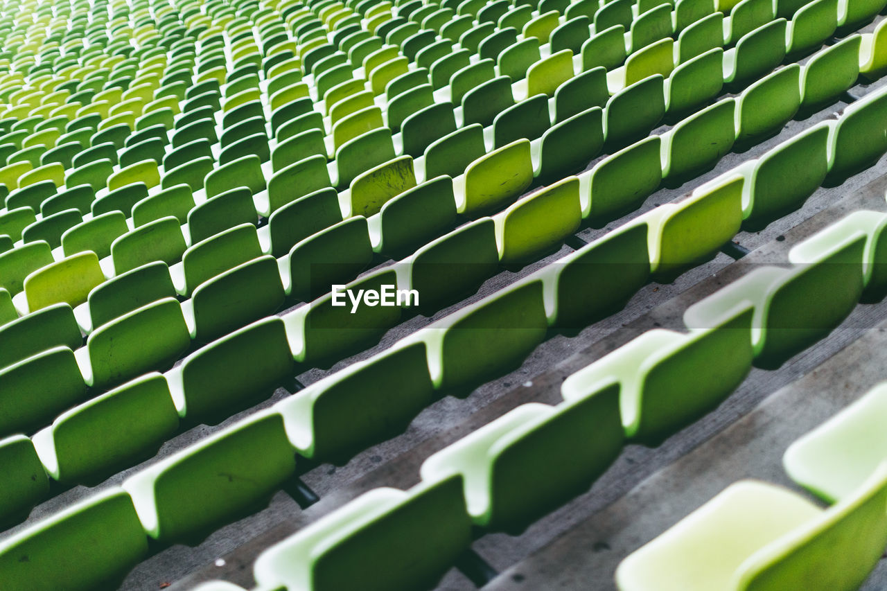
M 735 109 L 735 100 L 725 98 L 663 134 L 663 181 L 667 185 L 681 185 L 730 152 L 736 139 Z

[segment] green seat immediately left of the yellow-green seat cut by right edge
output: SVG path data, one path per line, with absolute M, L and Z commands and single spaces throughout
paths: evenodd
M 801 105 L 811 110 L 835 101 L 860 76 L 860 35 L 812 56 L 801 75 Z

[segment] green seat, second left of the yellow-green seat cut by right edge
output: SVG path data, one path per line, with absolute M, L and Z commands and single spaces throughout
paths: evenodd
M 801 106 L 801 67 L 791 64 L 753 83 L 736 102 L 736 142 L 757 143 L 779 132 Z

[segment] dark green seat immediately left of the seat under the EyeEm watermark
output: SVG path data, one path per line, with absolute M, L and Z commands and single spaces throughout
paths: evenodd
M 168 380 L 179 416 L 217 422 L 269 398 L 293 372 L 283 321 L 271 316 L 193 352 Z

